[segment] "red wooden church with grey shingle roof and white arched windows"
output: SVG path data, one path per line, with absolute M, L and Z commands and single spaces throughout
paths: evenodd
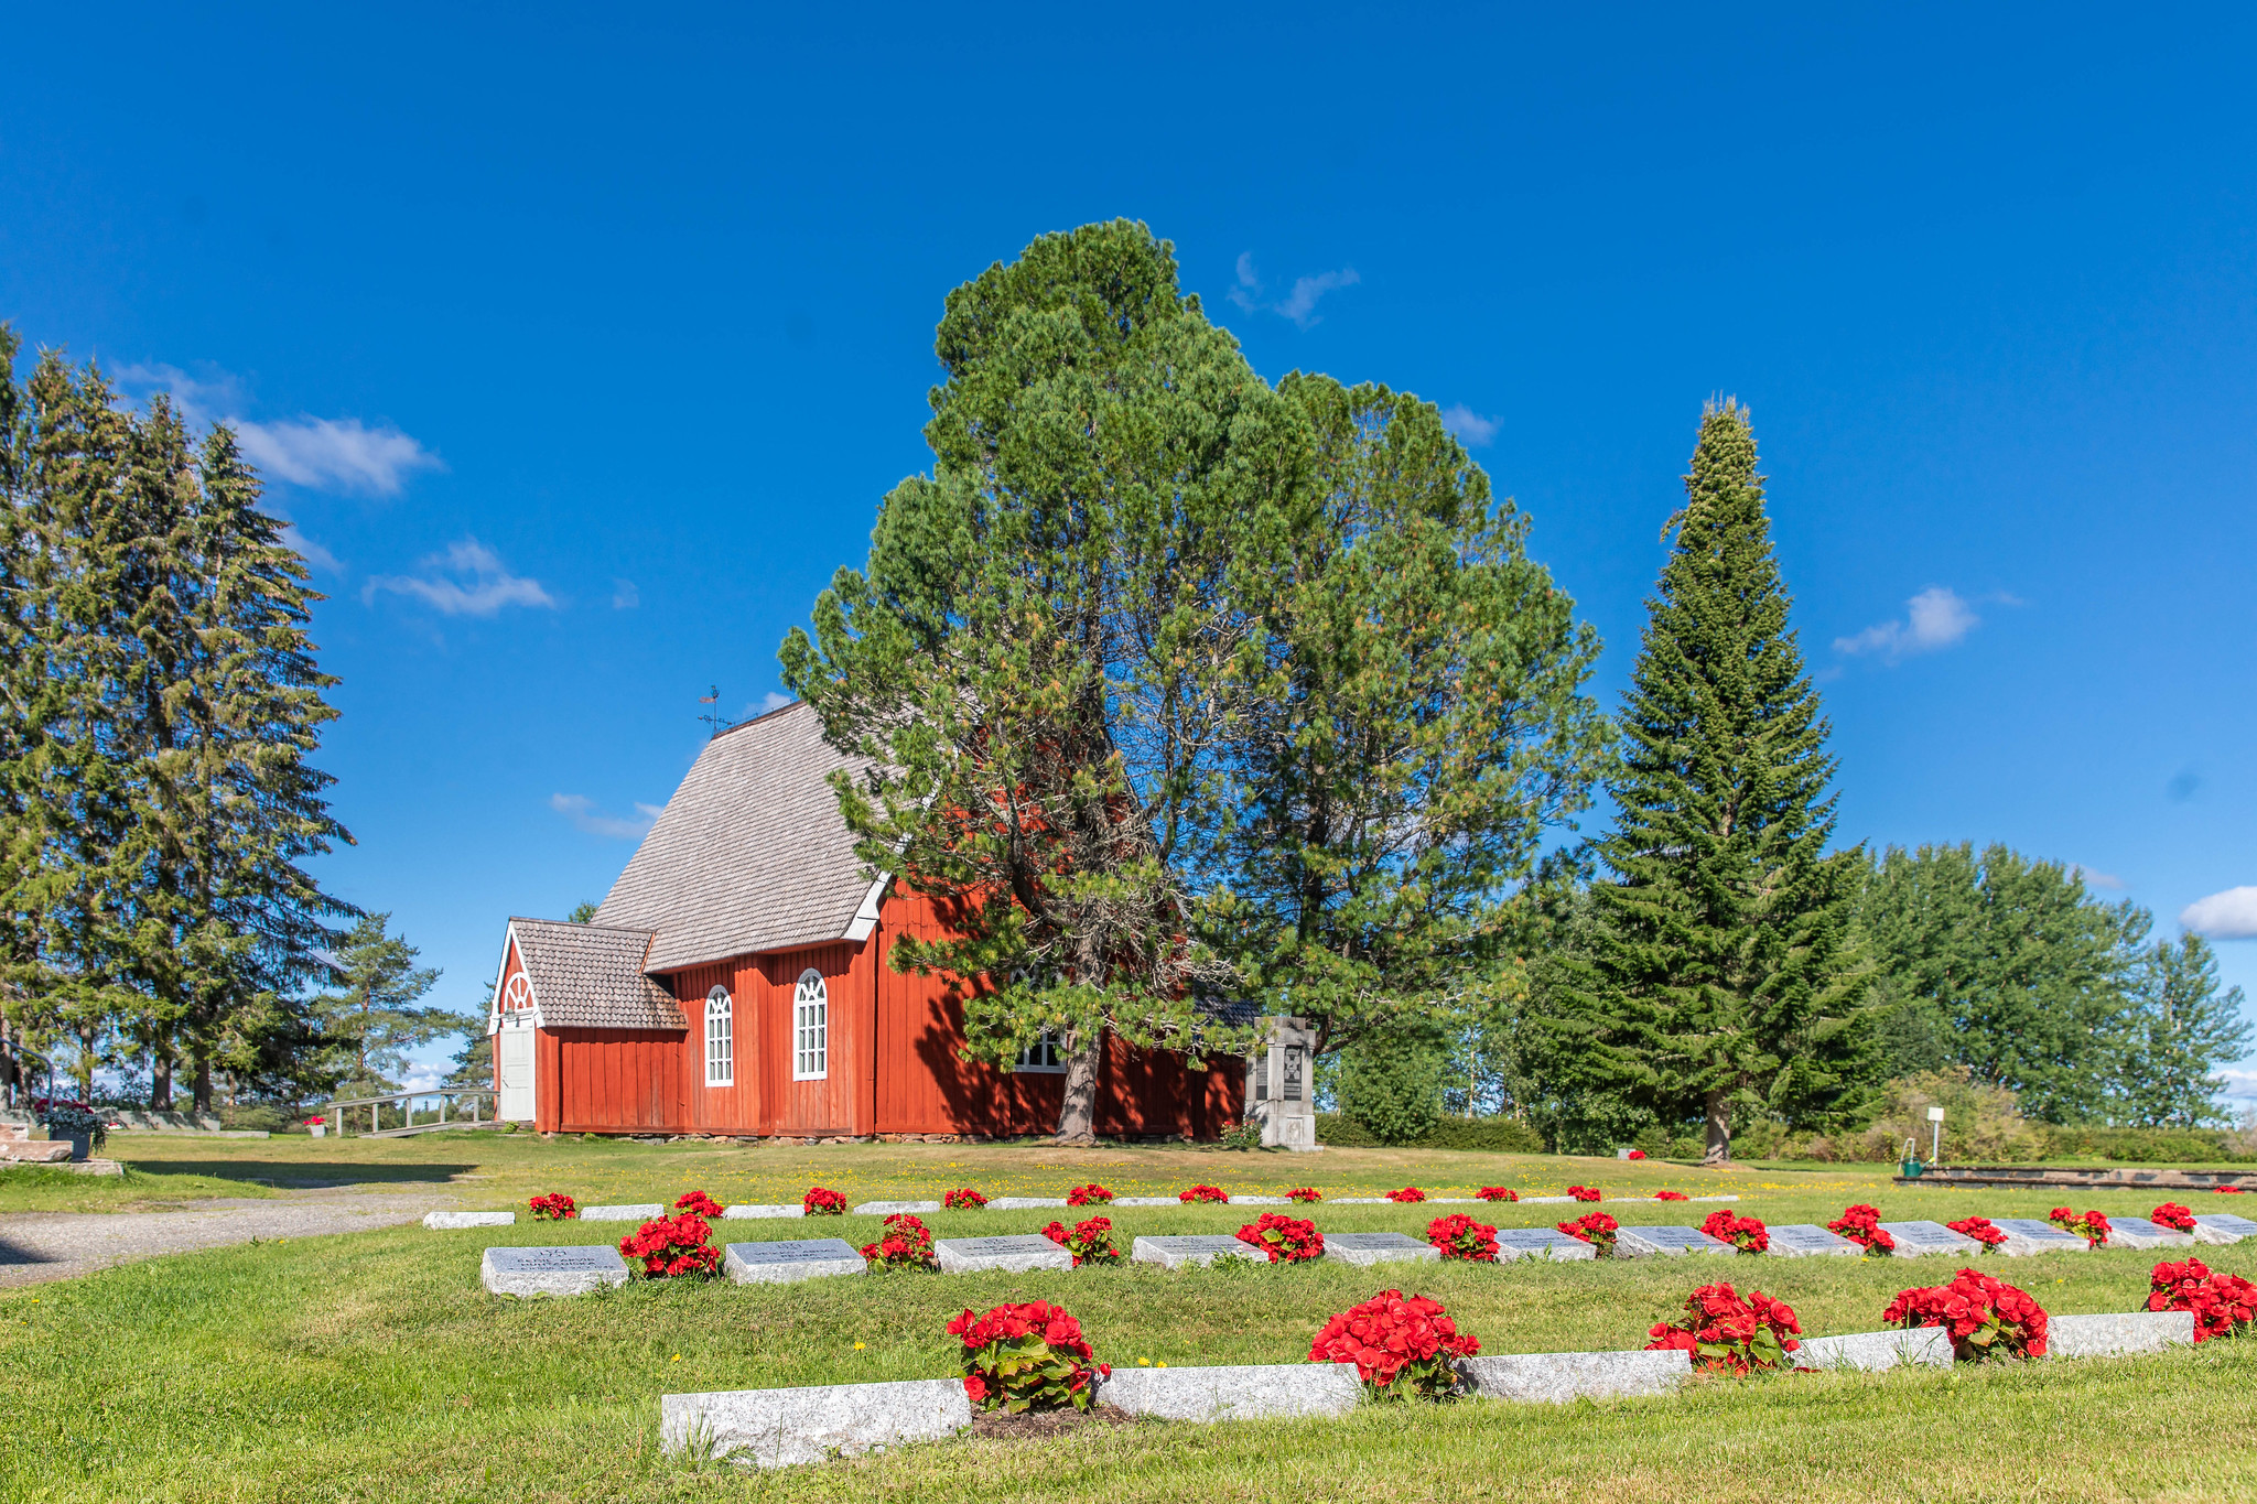
M 488 1017 L 503 1118 L 743 1139 L 1056 1127 L 1065 1067 L 1047 1046 L 1009 1071 L 959 1060 L 948 979 L 887 965 L 939 920 L 855 859 L 826 782 L 844 764 L 806 706 L 724 731 L 591 924 L 510 920 Z M 1239 1060 L 1194 1071 L 1110 1039 L 1097 1132 L 1212 1139 L 1246 1085 Z

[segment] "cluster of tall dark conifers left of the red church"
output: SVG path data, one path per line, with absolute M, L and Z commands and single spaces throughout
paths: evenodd
M 311 762 L 336 681 L 302 559 L 226 426 L 56 352 L 18 381 L 18 350 L 0 327 L 0 1085 L 388 1085 L 463 1019 L 305 870 L 352 837 Z

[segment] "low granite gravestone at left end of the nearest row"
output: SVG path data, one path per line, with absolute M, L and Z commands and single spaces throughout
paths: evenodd
M 939 1441 L 971 1423 L 973 1403 L 959 1378 L 659 1396 L 659 1450 L 763 1468 Z

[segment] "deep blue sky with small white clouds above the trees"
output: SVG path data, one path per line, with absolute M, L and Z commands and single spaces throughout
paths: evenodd
M 1115 214 L 1266 377 L 1451 410 L 1609 706 L 1738 395 L 1844 839 L 2257 931 L 2246 11 L 621 16 L 11 18 L 0 318 L 244 426 L 330 593 L 323 879 L 440 1001 L 779 688 L 943 293 Z

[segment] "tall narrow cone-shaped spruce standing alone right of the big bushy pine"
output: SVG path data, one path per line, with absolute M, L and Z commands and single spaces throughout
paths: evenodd
M 1666 1118 L 1819 1121 L 1860 1085 L 1867 976 L 1846 931 L 1862 852 L 1833 852 L 1835 764 L 1788 629 L 1736 401 L 1702 413 L 1677 541 L 1648 600 L 1600 843 L 1591 1044 Z

